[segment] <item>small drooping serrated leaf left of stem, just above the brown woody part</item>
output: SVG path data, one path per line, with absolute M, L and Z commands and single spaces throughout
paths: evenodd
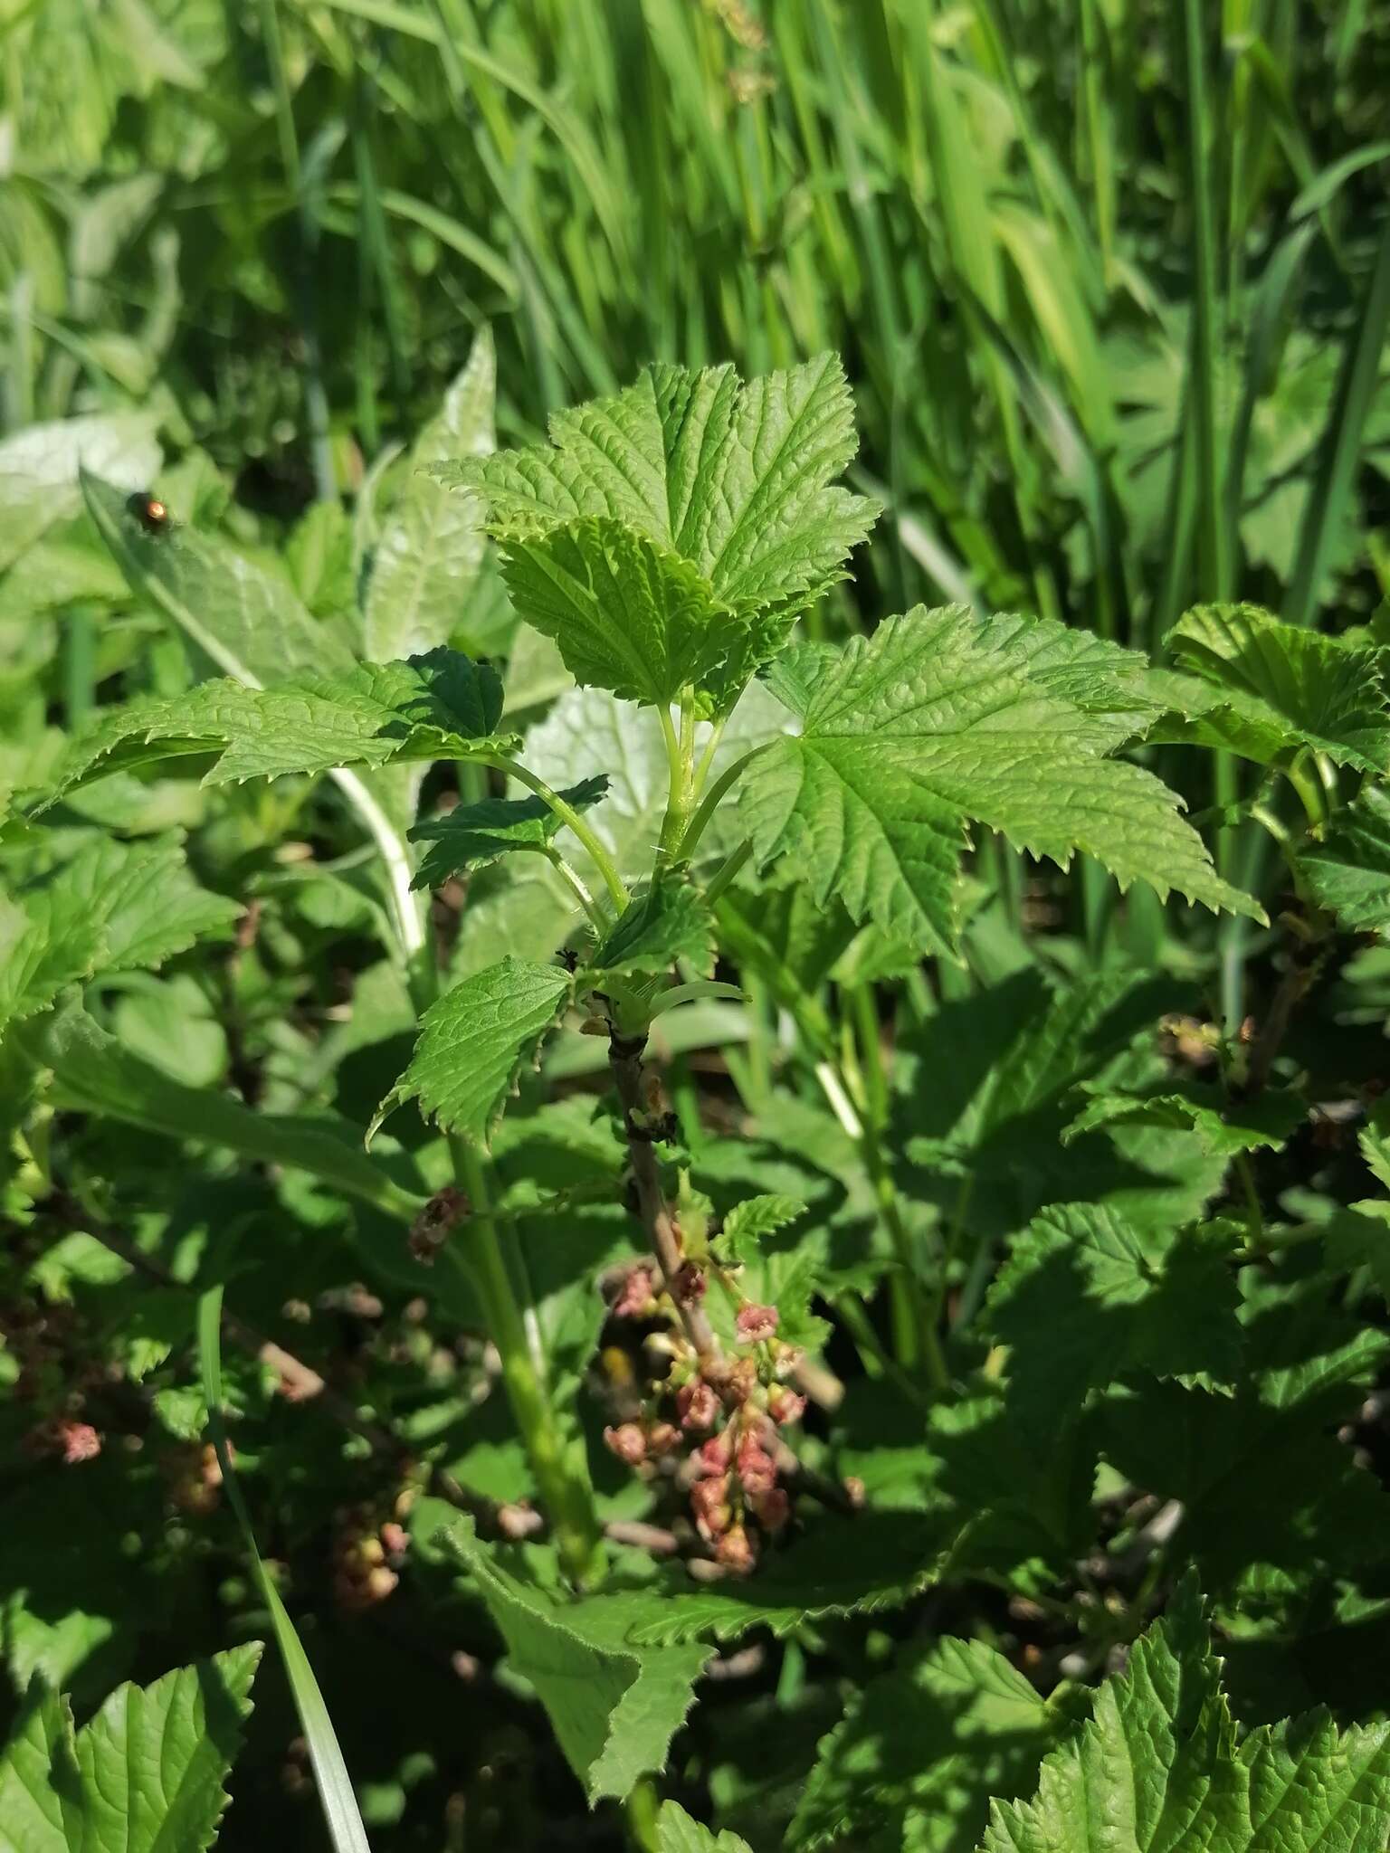
M 447 991 L 421 1017 L 410 1067 L 376 1116 L 419 1101 L 447 1132 L 487 1143 L 517 1073 L 534 1056 L 569 997 L 554 965 L 504 958 Z

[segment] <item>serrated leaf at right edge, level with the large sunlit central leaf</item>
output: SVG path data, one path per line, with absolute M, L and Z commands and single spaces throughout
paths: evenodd
M 1253 604 L 1203 604 L 1168 634 L 1175 660 L 1219 689 L 1188 691 L 1188 721 L 1156 739 L 1229 747 L 1270 765 L 1303 747 L 1340 765 L 1390 769 L 1390 702 L 1377 650 L 1353 649 Z

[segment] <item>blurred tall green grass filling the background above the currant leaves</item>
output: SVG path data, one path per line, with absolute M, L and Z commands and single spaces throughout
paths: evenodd
M 500 435 L 825 347 L 877 610 L 1366 617 L 1381 0 L 6 0 L 4 426 L 154 402 L 291 517 L 473 330 Z

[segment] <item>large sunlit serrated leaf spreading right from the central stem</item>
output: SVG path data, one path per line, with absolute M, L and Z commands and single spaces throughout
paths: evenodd
M 854 919 L 927 951 L 954 949 L 971 819 L 1062 865 L 1084 849 L 1121 888 L 1144 880 L 1160 897 L 1262 917 L 1219 880 L 1177 795 L 1105 758 L 1129 730 L 1105 708 L 1110 695 L 1086 712 L 1032 682 L 1027 636 L 1019 619 L 919 606 L 841 652 L 784 658 L 773 686 L 802 732 L 745 773 L 758 862 L 799 858 L 817 899 L 838 895 Z M 1108 689 L 1108 671 L 1097 676 Z

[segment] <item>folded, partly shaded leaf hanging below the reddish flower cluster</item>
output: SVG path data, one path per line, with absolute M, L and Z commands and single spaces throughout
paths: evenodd
M 589 1801 L 623 1799 L 643 1775 L 663 1770 L 708 1647 L 636 1645 L 623 1597 L 567 1603 L 523 1582 L 478 1542 L 471 1519 L 441 1531 L 439 1544 L 469 1571 Z

